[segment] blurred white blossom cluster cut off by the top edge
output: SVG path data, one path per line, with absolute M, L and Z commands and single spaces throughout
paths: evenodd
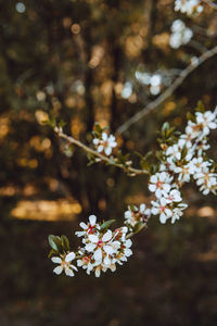
M 200 0 L 175 0 L 175 11 L 180 11 L 188 15 L 199 14 L 203 11 Z

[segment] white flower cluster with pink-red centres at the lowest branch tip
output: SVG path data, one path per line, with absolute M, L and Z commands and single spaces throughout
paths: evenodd
M 53 269 L 55 274 L 61 274 L 64 269 L 67 276 L 74 276 L 73 269 L 81 267 L 88 275 L 93 272 L 99 277 L 101 272 L 115 272 L 116 264 L 123 265 L 132 254 L 132 241 L 127 238 L 128 227 L 123 226 L 112 231 L 106 222 L 100 226 L 94 215 L 89 216 L 88 224 L 81 222 L 80 226 L 82 230 L 76 231 L 76 235 L 81 237 L 82 247 L 79 247 L 77 254 L 69 252 L 61 254 L 61 258 L 53 256 L 52 262 L 60 264 Z M 77 267 L 72 264 L 74 259 L 77 260 Z

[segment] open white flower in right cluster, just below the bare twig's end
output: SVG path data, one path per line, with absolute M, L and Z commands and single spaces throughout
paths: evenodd
M 166 172 L 156 173 L 150 178 L 149 190 L 155 192 L 157 198 L 161 198 L 163 190 L 166 192 L 170 190 L 173 179 L 174 177 Z

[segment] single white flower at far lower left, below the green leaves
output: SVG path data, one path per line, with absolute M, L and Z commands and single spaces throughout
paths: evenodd
M 53 273 L 60 275 L 63 271 L 65 271 L 65 275 L 73 277 L 75 274 L 73 269 L 78 271 L 76 266 L 71 264 L 71 262 L 75 259 L 75 253 L 69 252 L 65 256 L 52 256 L 51 261 L 53 263 L 60 264 L 53 269 Z

